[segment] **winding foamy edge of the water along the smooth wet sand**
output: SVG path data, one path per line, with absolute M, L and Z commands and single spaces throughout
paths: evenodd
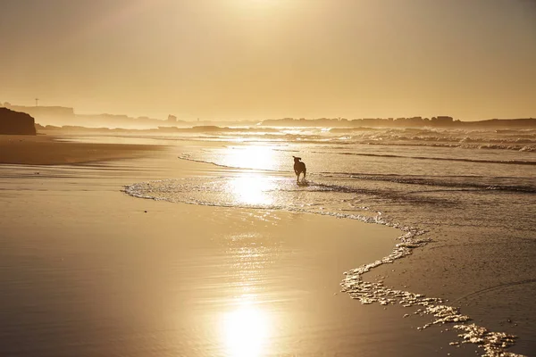
M 188 159 L 185 159 L 188 161 Z M 125 193 L 134 197 L 142 198 L 144 200 L 156 200 L 164 201 L 158 197 L 151 197 L 147 195 L 138 195 L 135 192 L 129 192 L 130 187 L 126 187 Z M 214 207 L 208 203 L 188 203 L 180 201 L 167 201 L 168 203 L 180 203 L 180 204 L 192 204 L 202 205 L 208 207 Z M 215 207 L 228 207 L 226 205 L 215 205 Z M 239 209 L 245 209 L 244 207 L 238 207 Z M 254 210 L 263 210 L 262 208 L 254 208 Z M 504 332 L 503 328 L 500 331 L 493 331 L 490 328 L 485 328 L 473 321 L 473 318 L 463 313 L 463 309 L 459 305 L 459 301 L 456 300 L 451 303 L 448 298 L 433 297 L 430 295 L 423 295 L 422 291 L 405 290 L 408 287 L 406 285 L 399 284 L 400 277 L 397 278 L 397 274 L 393 275 L 391 272 L 395 272 L 391 269 L 395 264 L 408 258 L 418 248 L 424 248 L 429 245 L 432 240 L 427 232 L 419 228 L 406 227 L 397 222 L 391 220 L 384 220 L 380 216 L 354 216 L 354 215 L 333 215 L 330 213 L 321 212 L 301 212 L 301 211 L 286 211 L 283 212 L 299 212 L 301 214 L 313 215 L 317 217 L 331 217 L 334 219 L 342 219 L 349 221 L 357 221 L 364 224 L 379 225 L 382 227 L 395 228 L 398 232 L 395 238 L 396 244 L 392 246 L 389 254 L 378 257 L 373 261 L 362 264 L 359 267 L 351 270 L 344 271 L 344 278 L 342 279 L 340 286 L 341 293 L 345 293 L 352 299 L 360 302 L 363 305 L 381 305 L 381 306 L 404 306 L 405 308 L 414 308 L 410 313 L 405 313 L 402 317 L 414 317 L 415 315 L 424 318 L 421 326 L 417 326 L 416 330 L 423 331 L 427 328 L 440 328 L 440 333 L 448 331 L 456 331 L 457 336 L 453 337 L 448 345 L 455 347 L 473 345 L 473 347 L 467 346 L 467 348 L 474 348 L 476 353 L 483 352 L 486 356 L 511 356 L 511 357 L 523 357 L 523 354 L 516 354 L 509 352 L 509 347 L 515 347 L 517 336 L 510 335 Z M 421 262 L 423 263 L 423 262 Z M 380 274 L 377 274 L 380 272 Z M 402 271 L 406 272 L 406 270 Z M 375 278 L 373 273 L 376 273 Z M 364 279 L 364 277 L 367 277 Z M 389 280 L 389 284 L 384 284 L 384 280 Z M 395 286 L 402 287 L 392 287 Z M 440 295 L 438 295 L 440 296 Z M 432 328 L 432 329 L 433 329 Z M 447 335 L 447 334 L 445 334 Z M 461 338 L 460 338 L 461 337 Z M 457 354 L 456 354 L 457 355 Z M 464 354 L 459 354 L 464 355 Z

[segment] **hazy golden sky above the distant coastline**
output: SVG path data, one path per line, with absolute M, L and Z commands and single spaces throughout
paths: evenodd
M 536 117 L 533 0 L 0 0 L 0 102 L 180 119 Z

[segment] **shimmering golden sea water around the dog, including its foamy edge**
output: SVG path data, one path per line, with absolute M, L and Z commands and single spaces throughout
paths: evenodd
M 536 352 L 536 129 L 211 127 L 151 140 L 222 175 L 138 182 L 126 194 L 398 228 L 393 252 L 345 272 L 343 292 L 417 306 L 431 317 L 421 328 L 450 323 L 452 344 L 485 355 Z M 293 156 L 306 163 L 298 183 Z M 408 274 L 369 278 L 390 264 Z

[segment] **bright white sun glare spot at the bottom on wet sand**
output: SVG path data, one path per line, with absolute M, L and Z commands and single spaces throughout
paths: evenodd
M 222 328 L 226 355 L 260 357 L 264 355 L 271 332 L 266 311 L 249 298 L 239 301 L 237 308 L 223 316 Z

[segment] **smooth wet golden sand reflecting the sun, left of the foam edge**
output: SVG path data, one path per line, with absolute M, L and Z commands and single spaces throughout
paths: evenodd
M 451 330 L 417 330 L 429 319 L 403 319 L 410 309 L 339 293 L 343 272 L 389 254 L 397 229 L 122 193 L 225 174 L 157 154 L 0 166 L 1 355 L 474 355 L 448 345 Z

